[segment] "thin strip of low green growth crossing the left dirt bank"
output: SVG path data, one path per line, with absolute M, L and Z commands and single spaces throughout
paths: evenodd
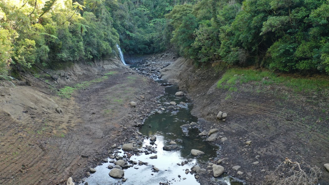
M 117 73 L 116 71 L 110 71 L 110 72 L 106 73 L 105 75 L 114 75 L 116 73 Z M 98 83 L 98 82 L 104 81 L 106 79 L 108 79 L 108 77 L 103 76 L 102 78 L 97 78 L 95 80 L 83 81 L 81 83 L 77 83 L 77 84 L 73 85 L 73 87 L 65 86 L 57 92 L 57 95 L 59 95 L 62 98 L 69 99 L 69 98 L 71 98 L 71 96 L 75 90 L 84 89 L 93 83 Z

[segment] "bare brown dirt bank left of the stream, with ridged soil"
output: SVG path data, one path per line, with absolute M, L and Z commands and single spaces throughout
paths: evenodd
M 0 86 L 0 184 L 64 184 L 69 176 L 79 181 L 110 145 L 137 130 L 163 91 L 117 60 L 75 65 L 66 72 L 69 78 L 59 79 L 62 86 L 112 75 L 70 99 L 32 77 L 26 77 L 32 86 Z

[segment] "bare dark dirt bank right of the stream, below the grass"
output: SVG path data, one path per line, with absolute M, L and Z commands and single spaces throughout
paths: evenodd
M 171 69 L 182 72 L 172 77 Z M 228 138 L 223 143 L 215 141 L 222 147 L 217 159 L 225 159 L 221 165 L 228 174 L 249 179 L 247 184 L 261 184 L 267 171 L 289 157 L 319 167 L 323 177 L 319 183 L 329 184 L 329 173 L 323 167 L 329 163 L 329 99 L 321 94 L 328 90 L 296 93 L 283 86 L 249 82 L 231 92 L 216 88 L 222 72 L 211 66 L 194 68 L 192 61 L 182 58 L 162 73 L 168 80 L 178 80 L 193 99 L 192 114 L 200 118 L 201 130 L 219 128 L 221 136 Z M 225 122 L 216 119 L 218 111 L 228 113 Z M 250 146 L 245 144 L 249 140 Z M 252 164 L 256 161 L 259 164 Z M 242 175 L 232 170 L 236 165 L 241 166 Z M 201 179 L 202 183 L 208 182 Z

